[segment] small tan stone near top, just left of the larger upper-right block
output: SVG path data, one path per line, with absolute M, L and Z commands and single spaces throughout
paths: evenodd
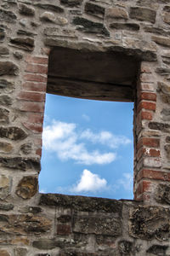
M 110 19 L 124 19 L 127 20 L 127 11 L 121 8 L 109 8 L 106 9 L 105 16 Z

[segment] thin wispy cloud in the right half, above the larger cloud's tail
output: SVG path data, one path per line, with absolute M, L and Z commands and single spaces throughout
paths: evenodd
M 93 131 L 87 129 L 82 132 L 81 138 L 87 139 L 92 143 L 101 143 L 107 145 L 110 148 L 118 148 L 121 145 L 132 143 L 125 136 L 115 136 L 110 131 L 100 131 L 99 133 L 94 133 Z

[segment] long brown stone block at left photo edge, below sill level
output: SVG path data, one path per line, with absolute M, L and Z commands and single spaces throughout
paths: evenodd
M 41 234 L 51 229 L 51 220 L 31 214 L 0 214 L 0 234 L 20 235 Z

